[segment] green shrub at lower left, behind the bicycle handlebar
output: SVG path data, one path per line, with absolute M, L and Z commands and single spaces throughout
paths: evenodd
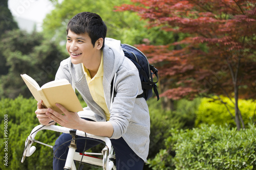
M 4 136 L 4 131 L 0 133 L 0 138 L 8 138 L 8 151 L 4 152 L 5 143 L 0 143 L 0 157 L 3 158 L 8 153 L 8 166 L 2 162 L 0 169 L 52 169 L 52 149 L 44 145 L 34 143 L 36 151 L 21 163 L 25 140 L 31 130 L 39 125 L 35 115 L 36 101 L 34 98 L 24 99 L 22 96 L 11 99 L 0 100 L 1 129 L 4 129 L 4 115 L 8 117 L 8 136 Z M 44 143 L 53 145 L 59 133 L 52 131 L 40 131 L 36 139 Z M 36 163 L 35 163 L 36 162 Z

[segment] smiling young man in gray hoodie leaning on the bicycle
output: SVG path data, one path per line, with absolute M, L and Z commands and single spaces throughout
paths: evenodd
M 60 63 L 55 79 L 69 80 L 88 107 L 73 113 L 56 104 L 63 112 L 60 114 L 44 108 L 41 101 L 35 113 L 42 125 L 54 120 L 67 128 L 110 137 L 117 169 L 143 169 L 150 143 L 150 115 L 145 99 L 136 98 L 143 92 L 139 73 L 124 56 L 120 41 L 105 36 L 105 23 L 95 13 L 82 12 L 69 21 L 66 47 L 70 57 Z M 112 102 L 113 79 L 116 95 Z M 70 139 L 70 134 L 60 135 L 53 150 Z M 55 155 L 65 159 L 67 145 Z M 82 152 L 83 147 L 84 141 L 77 140 L 77 151 Z M 65 161 L 54 158 L 54 169 L 63 169 L 64 165 Z

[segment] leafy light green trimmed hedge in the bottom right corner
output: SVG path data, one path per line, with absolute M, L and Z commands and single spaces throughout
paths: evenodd
M 256 128 L 202 125 L 193 130 L 171 130 L 166 149 L 153 160 L 152 169 L 256 169 Z M 175 156 L 170 156 L 175 152 Z

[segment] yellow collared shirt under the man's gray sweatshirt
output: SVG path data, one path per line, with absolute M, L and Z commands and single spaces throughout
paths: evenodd
M 110 119 L 110 112 L 108 107 L 106 106 L 104 91 L 103 91 L 103 57 L 101 52 L 101 61 L 99 65 L 99 69 L 96 75 L 91 78 L 89 70 L 82 64 L 82 70 L 84 75 L 86 76 L 87 84 L 90 89 L 90 93 L 93 97 L 93 100 L 104 110 L 106 115 L 106 120 Z

